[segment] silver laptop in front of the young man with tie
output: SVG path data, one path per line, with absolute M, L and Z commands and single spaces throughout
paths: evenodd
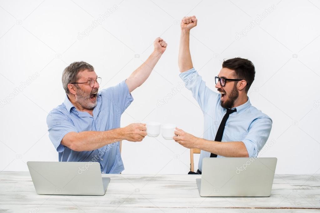
M 276 170 L 275 157 L 205 157 L 201 179 L 202 197 L 268 197 Z

